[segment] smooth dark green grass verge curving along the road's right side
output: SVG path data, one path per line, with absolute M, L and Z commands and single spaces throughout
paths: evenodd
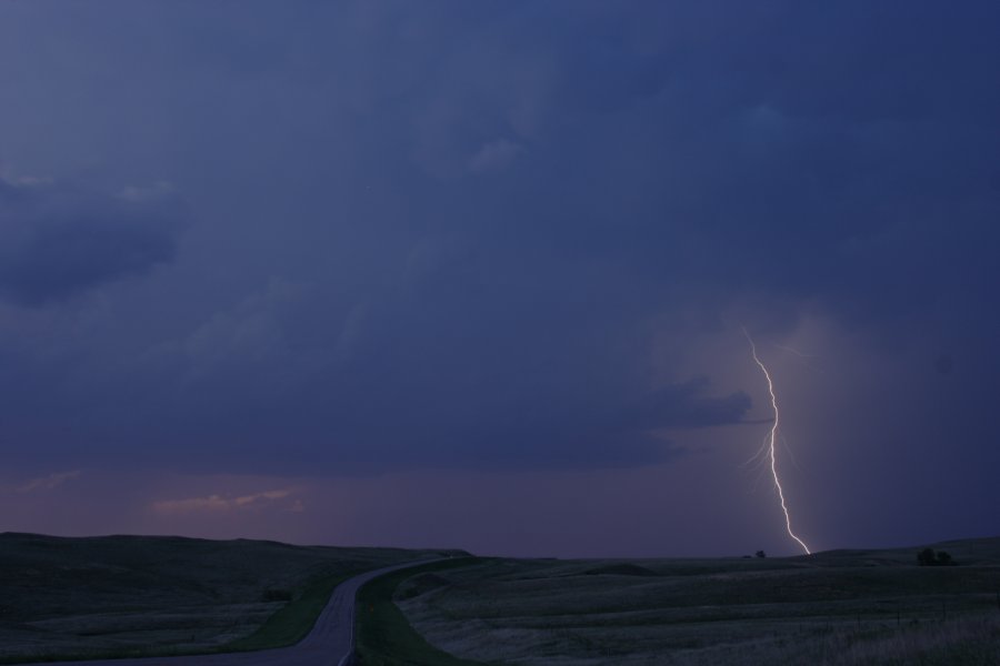
M 476 557 L 408 568 L 367 583 L 358 593 L 356 637 L 362 666 L 481 666 L 441 652 L 418 634 L 393 603 L 403 582 L 421 575 L 469 566 Z

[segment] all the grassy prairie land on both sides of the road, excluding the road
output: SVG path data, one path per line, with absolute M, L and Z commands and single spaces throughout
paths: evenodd
M 1000 663 L 1000 537 L 797 557 L 449 557 L 359 594 L 364 666 Z M 297 642 L 366 569 L 467 555 L 0 535 L 0 659 Z

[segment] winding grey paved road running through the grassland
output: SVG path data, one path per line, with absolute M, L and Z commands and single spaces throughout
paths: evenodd
M 353 649 L 354 596 L 367 582 L 397 569 L 434 562 L 424 559 L 397 564 L 349 578 L 337 586 L 316 626 L 297 645 L 278 649 L 226 655 L 187 657 L 141 657 L 134 659 L 93 659 L 72 662 L 80 666 L 340 666 Z M 70 662 L 48 662 L 33 666 L 67 666 Z

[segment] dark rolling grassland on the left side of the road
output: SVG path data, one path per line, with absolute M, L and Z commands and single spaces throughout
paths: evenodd
M 438 554 L 0 534 L 0 663 L 290 645 L 344 577 Z

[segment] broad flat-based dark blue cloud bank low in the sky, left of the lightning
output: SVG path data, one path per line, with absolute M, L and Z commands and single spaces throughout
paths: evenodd
M 334 301 L 327 289 L 272 282 L 126 369 L 131 394 L 80 418 L 126 456 L 140 432 L 184 467 L 357 472 L 647 464 L 682 453 L 678 430 L 737 423 L 750 406 L 704 380 L 650 390 L 618 324 L 582 302 L 483 289 L 439 286 L 433 309 L 404 293 L 331 312 L 316 306 Z M 526 326 L 546 340 L 529 344 Z

